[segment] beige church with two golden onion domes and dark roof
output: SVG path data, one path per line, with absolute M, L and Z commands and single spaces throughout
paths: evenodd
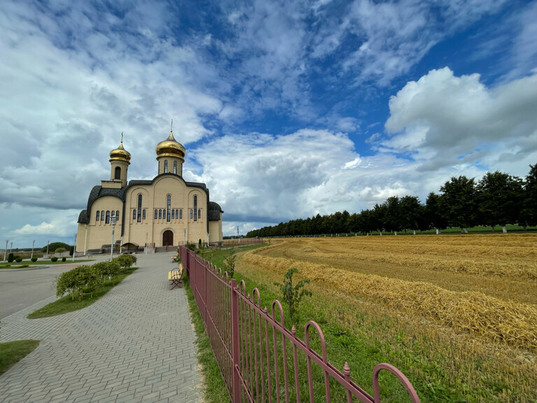
M 110 180 L 94 186 L 78 216 L 78 255 L 109 252 L 112 234 L 116 251 L 222 241 L 224 212 L 210 201 L 205 183 L 182 178 L 185 147 L 174 139 L 173 129 L 156 153 L 158 175 L 127 182 L 131 154 L 123 139 L 110 151 Z

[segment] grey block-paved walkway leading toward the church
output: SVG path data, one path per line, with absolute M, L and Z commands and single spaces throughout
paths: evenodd
M 139 269 L 80 311 L 3 318 L 0 341 L 40 339 L 0 376 L 2 402 L 200 402 L 185 290 L 169 290 L 171 253 L 137 255 Z

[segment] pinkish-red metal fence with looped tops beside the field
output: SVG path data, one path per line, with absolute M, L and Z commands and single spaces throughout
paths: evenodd
M 260 305 L 259 290 L 246 293 L 245 283 L 228 281 L 227 273 L 180 248 L 183 268 L 199 308 L 231 401 L 239 402 L 380 402 L 379 372 L 392 372 L 413 403 L 420 402 L 412 384 L 399 369 L 379 364 L 373 369 L 373 396 L 327 360 L 327 346 L 317 323 L 305 327 L 305 341 L 284 325 L 282 305 L 271 313 Z M 321 351 L 321 353 L 317 353 Z

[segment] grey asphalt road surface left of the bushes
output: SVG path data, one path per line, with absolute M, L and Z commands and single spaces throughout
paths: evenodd
M 103 260 L 104 257 L 96 259 Z M 58 264 L 41 269 L 0 269 L 0 319 L 55 295 L 52 281 L 58 274 L 80 264 L 93 263 L 77 264 L 75 260 L 74 264 Z

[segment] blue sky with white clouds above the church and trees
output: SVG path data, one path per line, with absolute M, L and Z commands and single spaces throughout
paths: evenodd
M 536 1 L 2 1 L 1 239 L 72 242 L 121 132 L 153 178 L 172 118 L 224 234 L 525 176 L 536 38 Z

